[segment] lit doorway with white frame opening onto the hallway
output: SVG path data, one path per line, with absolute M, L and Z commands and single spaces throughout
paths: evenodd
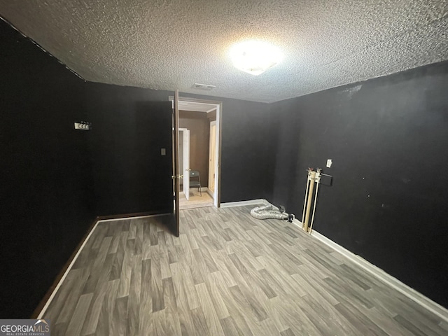
M 180 209 L 221 204 L 221 113 L 221 102 L 179 97 Z

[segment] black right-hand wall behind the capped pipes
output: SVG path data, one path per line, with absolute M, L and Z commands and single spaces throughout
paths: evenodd
M 448 63 L 279 102 L 273 202 L 302 214 L 323 167 L 314 228 L 448 307 Z M 325 168 L 328 158 L 332 168 Z

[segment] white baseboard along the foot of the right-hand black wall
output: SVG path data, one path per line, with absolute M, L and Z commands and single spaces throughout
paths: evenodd
M 293 221 L 293 224 L 297 225 L 300 230 L 302 230 L 302 223 L 300 223 L 300 221 L 295 219 Z M 406 295 L 407 297 L 409 297 L 409 299 L 420 304 L 421 307 L 424 307 L 428 311 L 448 322 L 448 309 L 446 309 L 445 307 L 442 307 L 437 302 L 430 300 L 430 298 L 417 292 L 413 288 L 407 286 L 405 283 L 402 283 L 400 280 L 391 276 L 391 274 L 384 272 L 383 269 L 373 265 L 364 258 L 361 258 L 359 255 L 356 255 L 355 253 L 340 246 L 339 244 L 335 243 L 335 241 L 332 241 L 331 239 L 325 237 L 316 230 L 312 230 L 311 236 L 322 241 L 323 244 L 330 246 L 330 248 L 334 249 L 336 252 L 341 253 L 342 255 L 344 255 L 344 257 L 348 258 L 349 260 L 351 260 L 351 262 L 354 262 L 362 269 L 365 269 L 365 271 L 369 272 L 377 279 L 383 281 L 384 283 L 388 284 L 388 286 L 395 288 L 395 290 L 398 290 L 400 293 Z

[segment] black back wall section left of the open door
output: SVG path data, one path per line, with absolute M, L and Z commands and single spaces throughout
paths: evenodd
M 169 93 L 101 83 L 85 87 L 97 214 L 171 212 Z

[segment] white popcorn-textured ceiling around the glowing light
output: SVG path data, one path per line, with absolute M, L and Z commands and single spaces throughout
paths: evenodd
M 448 0 L 0 0 L 0 15 L 86 80 L 258 102 L 448 59 Z M 283 62 L 235 69 L 247 38 Z

